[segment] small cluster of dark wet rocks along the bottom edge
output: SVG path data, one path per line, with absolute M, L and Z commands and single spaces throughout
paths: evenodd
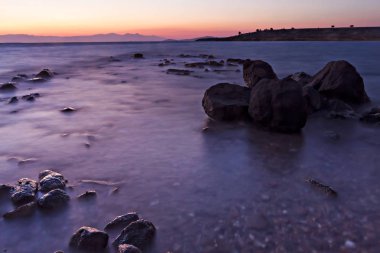
M 156 233 L 150 221 L 140 219 L 137 213 L 118 216 L 109 222 L 104 230 L 122 229 L 112 245 L 119 253 L 141 253 L 149 246 Z M 108 245 L 107 232 L 93 228 L 81 227 L 70 239 L 70 246 L 85 251 L 102 251 Z

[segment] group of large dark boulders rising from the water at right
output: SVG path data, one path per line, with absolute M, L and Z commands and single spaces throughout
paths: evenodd
M 221 83 L 207 89 L 202 105 L 212 119 L 250 118 L 274 131 L 298 132 L 311 113 L 326 109 L 330 117 L 353 117 L 351 105 L 369 102 L 363 78 L 347 61 L 330 62 L 314 76 L 300 72 L 284 79 L 267 62 L 233 61 L 243 64 L 248 88 Z M 379 115 L 373 109 L 362 120 L 379 122 Z

